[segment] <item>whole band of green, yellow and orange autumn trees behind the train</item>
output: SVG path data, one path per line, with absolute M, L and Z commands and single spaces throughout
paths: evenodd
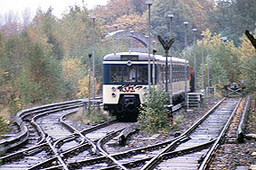
M 198 30 L 195 34 L 198 86 L 203 78 L 206 85 L 206 74 L 203 77 L 201 73 L 206 73 L 208 56 L 212 86 L 221 88 L 245 80 L 246 90 L 255 91 L 256 51 L 243 34 L 249 30 L 256 37 L 254 5 L 252 0 L 155 0 L 151 6 L 152 40 L 156 40 L 157 35 L 168 39 L 172 33 L 175 37 L 173 55 L 184 58 L 183 22 L 187 21 L 187 58 L 192 67 L 191 30 Z M 118 24 L 119 30 L 147 35 L 146 0 L 109 0 L 108 4 L 93 10 L 74 5 L 62 18 L 54 16 L 52 10 L 39 9 L 28 24 L 0 21 L 0 104 L 10 106 L 10 112 L 42 103 L 89 97 L 88 53 L 93 50 L 93 28 L 96 95 L 101 94 L 102 58 L 115 51 L 115 40 L 105 39 L 106 34 L 115 31 L 113 25 Z M 167 18 L 169 13 L 175 16 L 172 23 Z M 95 25 L 91 15 L 97 16 Z M 202 31 L 204 40 L 200 36 Z M 222 36 L 228 40 L 220 40 Z M 128 47 L 128 42 L 119 40 L 119 51 Z M 157 54 L 163 54 L 157 41 L 155 48 Z

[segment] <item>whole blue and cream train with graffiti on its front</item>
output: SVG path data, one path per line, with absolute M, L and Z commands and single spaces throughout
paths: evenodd
M 153 63 L 155 64 L 154 69 Z M 173 103 L 175 104 L 181 103 L 185 98 L 185 59 L 172 58 L 172 65 Z M 120 52 L 104 57 L 103 104 L 105 111 L 108 111 L 110 115 L 116 116 L 120 121 L 137 119 L 138 108 L 141 103 L 144 103 L 143 95 L 148 91 L 147 66 L 147 53 Z M 168 60 L 169 66 L 170 62 Z M 150 67 L 152 82 L 155 81 L 157 86 L 164 87 L 166 85 L 166 57 L 151 54 Z M 189 92 L 191 91 L 192 71 L 188 65 L 186 70 L 186 86 L 187 92 Z M 170 85 L 170 81 L 168 81 L 169 88 Z

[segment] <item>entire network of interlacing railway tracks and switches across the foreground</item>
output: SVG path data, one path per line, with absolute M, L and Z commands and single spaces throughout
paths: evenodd
M 28 137 L 23 148 L 0 157 L 0 168 L 204 169 L 238 103 L 237 99 L 223 99 L 179 137 L 121 153 L 115 153 L 108 143 L 133 123 L 111 121 L 79 131 L 64 117 L 76 112 L 81 101 L 61 104 L 61 108 L 54 104 L 36 108 L 19 115 Z

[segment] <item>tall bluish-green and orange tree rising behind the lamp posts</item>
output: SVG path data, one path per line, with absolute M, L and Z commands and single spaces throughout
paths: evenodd
M 174 14 L 172 22 L 172 35 L 175 37 L 174 48 L 183 49 L 185 41 L 185 25 L 183 22 L 189 22 L 187 28 L 188 43 L 192 42 L 192 27 L 197 28 L 198 35 L 200 31 L 209 24 L 206 11 L 212 11 L 213 1 L 208 0 L 157 0 L 152 6 L 152 32 L 154 36 L 161 35 L 166 39 L 170 36 L 170 19 L 167 14 Z

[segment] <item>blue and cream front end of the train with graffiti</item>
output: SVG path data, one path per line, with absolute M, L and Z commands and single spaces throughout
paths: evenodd
M 147 61 L 137 53 L 117 53 L 103 60 L 104 110 L 119 121 L 136 121 L 147 92 Z

